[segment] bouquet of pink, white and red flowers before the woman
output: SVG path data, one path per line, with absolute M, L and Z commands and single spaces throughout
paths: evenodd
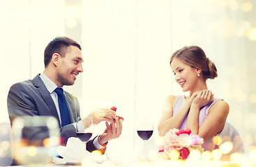
M 198 135 L 191 134 L 190 129 L 170 129 L 164 136 L 165 142 L 160 145 L 158 154 L 167 157 L 172 150 L 179 152 L 179 159 L 187 159 L 191 150 L 197 149 L 200 152 L 204 151 L 202 144 L 204 139 Z

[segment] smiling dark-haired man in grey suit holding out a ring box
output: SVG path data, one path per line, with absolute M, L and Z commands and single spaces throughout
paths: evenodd
M 68 138 L 77 137 L 76 132 L 89 127 L 90 120 L 94 125 L 106 121 L 105 132 L 86 143 L 88 151 L 104 152 L 107 141 L 120 136 L 122 120 L 111 109 L 96 109 L 81 120 L 77 97 L 62 89 L 64 85 L 73 85 L 77 75 L 83 72 L 80 45 L 67 37 L 54 38 L 45 48 L 44 61 L 42 74 L 11 86 L 7 100 L 10 122 L 17 116 L 54 116 L 59 120 L 60 136 L 65 144 Z

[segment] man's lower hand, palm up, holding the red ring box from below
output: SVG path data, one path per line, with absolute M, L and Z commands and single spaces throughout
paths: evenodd
M 115 120 L 110 123 L 110 125 L 108 122 L 106 122 L 107 128 L 105 129 L 105 132 L 98 138 L 98 143 L 100 143 L 100 145 L 105 145 L 107 141 L 118 138 L 122 132 L 122 122 L 123 120 L 119 119 L 118 117 L 116 117 Z

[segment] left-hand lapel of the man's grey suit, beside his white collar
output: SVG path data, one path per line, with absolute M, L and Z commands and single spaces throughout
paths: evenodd
M 43 84 L 42 79 L 39 77 L 39 74 L 36 75 L 36 77 L 33 79 L 33 84 L 34 84 L 34 86 L 36 86 L 38 92 L 43 97 L 43 100 L 45 101 L 48 108 L 50 109 L 50 111 L 52 113 L 52 116 L 57 118 L 57 120 L 59 122 L 59 116 L 58 116 L 58 113 L 57 113 L 56 106 L 55 106 L 55 104 L 52 100 L 52 97 L 51 97 L 49 91 L 45 87 L 45 84 Z M 59 125 L 60 125 L 60 122 L 59 122 Z

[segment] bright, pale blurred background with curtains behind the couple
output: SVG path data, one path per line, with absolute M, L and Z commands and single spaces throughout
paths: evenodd
M 198 45 L 218 69 L 208 86 L 229 103 L 227 121 L 247 152 L 256 146 L 256 0 L 0 0 L 0 25 L 0 122 L 10 86 L 42 73 L 47 43 L 66 35 L 82 45 L 84 72 L 65 89 L 83 116 L 116 106 L 123 134 L 108 150 L 140 150 L 135 122 L 153 118 L 153 143 L 165 98 L 184 94 L 170 56 Z

